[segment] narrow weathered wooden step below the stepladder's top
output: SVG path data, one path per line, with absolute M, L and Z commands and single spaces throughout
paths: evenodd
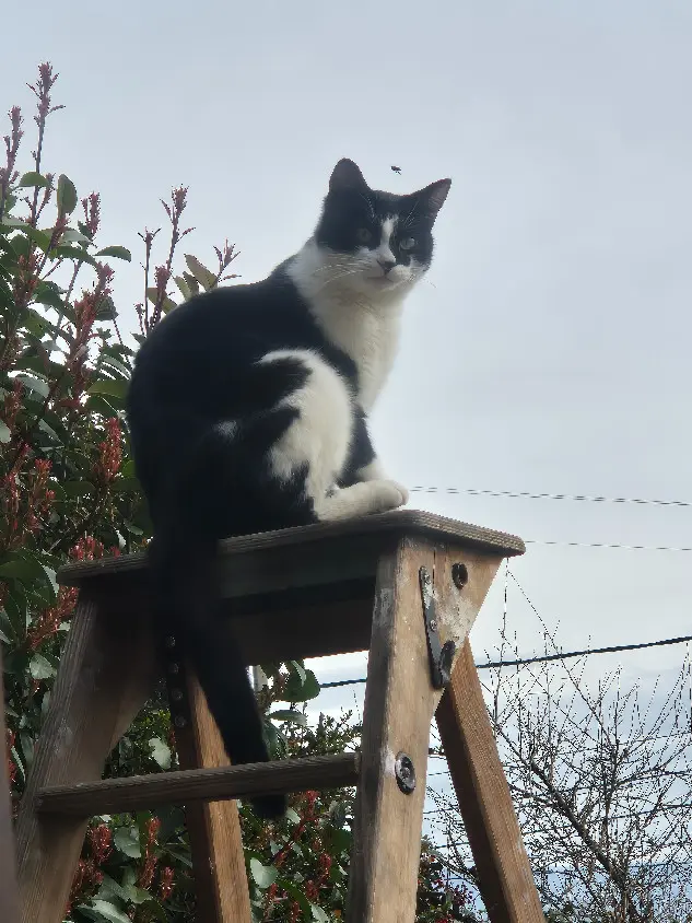
M 39 788 L 34 806 L 37 814 L 92 817 L 162 804 L 221 802 L 310 788 L 341 788 L 357 783 L 359 769 L 359 753 L 187 769 Z

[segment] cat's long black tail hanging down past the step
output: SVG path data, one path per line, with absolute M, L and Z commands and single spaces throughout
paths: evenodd
M 248 674 L 224 618 L 214 575 L 215 542 L 189 531 L 160 531 L 150 547 L 154 614 L 160 636 L 173 635 L 197 674 L 232 763 L 269 759 Z M 251 802 L 265 818 L 280 817 L 283 795 Z

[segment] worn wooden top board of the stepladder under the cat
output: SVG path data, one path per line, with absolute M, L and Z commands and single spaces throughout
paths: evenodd
M 419 510 L 395 510 L 357 519 L 339 523 L 315 523 L 309 526 L 259 533 L 237 538 L 227 538 L 220 542 L 222 558 L 267 552 L 283 548 L 298 550 L 325 542 L 338 545 L 340 539 L 389 542 L 391 538 L 427 538 L 435 541 L 454 544 L 477 552 L 497 557 L 514 557 L 526 551 L 524 541 L 515 535 L 481 528 L 468 523 L 460 523 L 433 513 Z M 58 571 L 58 582 L 64 586 L 80 586 L 97 577 L 115 577 L 134 574 L 146 569 L 146 554 L 122 554 L 118 558 L 102 558 L 66 564 Z

